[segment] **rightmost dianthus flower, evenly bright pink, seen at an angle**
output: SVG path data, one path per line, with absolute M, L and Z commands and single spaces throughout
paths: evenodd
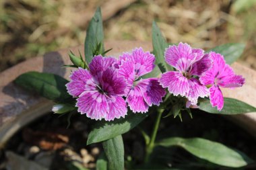
M 226 64 L 221 54 L 210 52 L 213 60 L 212 68 L 206 71 L 200 81 L 203 85 L 210 85 L 210 102 L 212 106 L 217 106 L 220 111 L 224 105 L 224 99 L 220 87 L 241 87 L 245 79 L 241 75 L 235 75 L 232 68 Z

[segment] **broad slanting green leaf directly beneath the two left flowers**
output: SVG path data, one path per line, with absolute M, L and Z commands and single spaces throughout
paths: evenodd
M 124 134 L 137 126 L 147 116 L 148 114 L 133 114 L 130 112 L 125 118 L 115 119 L 110 122 L 97 121 L 88 136 L 87 144 L 102 142 Z

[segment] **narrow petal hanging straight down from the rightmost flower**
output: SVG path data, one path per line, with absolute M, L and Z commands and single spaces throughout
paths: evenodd
M 210 88 L 210 101 L 212 103 L 212 107 L 217 106 L 219 111 L 222 110 L 224 105 L 224 98 L 219 87 L 212 86 Z

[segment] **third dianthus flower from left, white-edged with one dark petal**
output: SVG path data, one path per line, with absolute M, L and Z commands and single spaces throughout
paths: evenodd
M 212 65 L 203 50 L 179 43 L 178 46 L 166 48 L 164 56 L 168 65 L 176 71 L 168 71 L 160 77 L 162 87 L 168 87 L 168 91 L 173 95 L 187 97 L 187 107 L 190 104 L 196 105 L 198 97 L 206 97 L 209 94 L 207 87 L 197 79 Z

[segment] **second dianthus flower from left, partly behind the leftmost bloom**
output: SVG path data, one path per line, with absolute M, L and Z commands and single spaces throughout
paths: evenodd
M 139 79 L 154 69 L 155 57 L 142 48 L 135 48 L 123 53 L 119 58 L 119 75 L 127 80 L 126 101 L 133 112 L 148 112 L 149 106 L 159 105 L 165 90 L 158 83 L 158 78 Z

